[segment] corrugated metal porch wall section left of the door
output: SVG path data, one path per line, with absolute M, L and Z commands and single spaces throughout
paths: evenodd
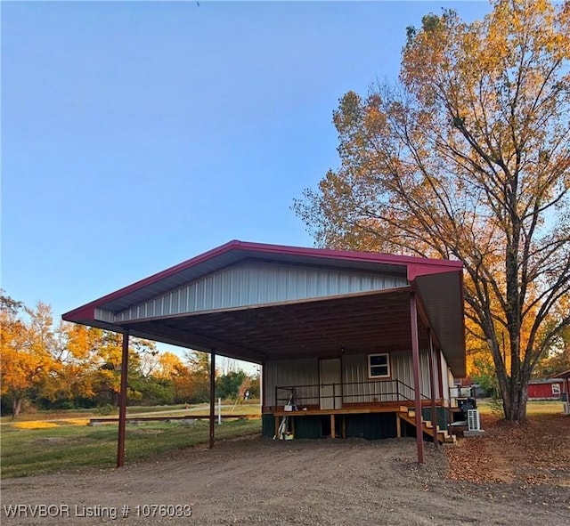
M 267 361 L 265 370 L 265 405 L 275 405 L 276 385 L 280 387 L 298 386 L 297 399 L 303 405 L 319 403 L 319 361 L 316 358 Z M 303 385 L 314 387 L 302 387 Z M 283 395 L 284 393 L 280 393 L 280 398 Z

